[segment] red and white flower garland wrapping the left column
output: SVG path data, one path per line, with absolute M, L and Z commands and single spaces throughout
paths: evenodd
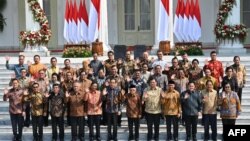
M 26 46 L 35 44 L 48 44 L 51 37 L 48 19 L 37 0 L 28 0 L 28 5 L 32 10 L 35 21 L 39 22 L 40 30 L 38 31 L 21 31 L 19 38 L 21 43 Z

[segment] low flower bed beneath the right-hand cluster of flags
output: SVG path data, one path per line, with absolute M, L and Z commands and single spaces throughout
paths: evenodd
M 174 55 L 182 55 L 187 53 L 190 56 L 204 55 L 201 43 L 178 43 L 172 50 Z

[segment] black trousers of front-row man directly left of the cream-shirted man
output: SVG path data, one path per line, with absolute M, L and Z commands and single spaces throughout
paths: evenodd
M 135 127 L 135 134 L 133 132 L 133 126 Z M 139 138 L 139 126 L 140 126 L 140 118 L 129 118 L 128 117 L 128 129 L 129 129 L 129 139 Z

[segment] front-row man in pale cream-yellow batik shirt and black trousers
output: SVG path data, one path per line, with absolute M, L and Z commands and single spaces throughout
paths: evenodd
M 161 95 L 162 89 L 157 87 L 155 78 L 149 79 L 149 87 L 145 89 L 143 94 L 143 103 L 145 103 L 145 117 L 147 120 L 148 135 L 147 140 L 152 140 L 152 128 L 154 124 L 154 139 L 159 140 L 159 126 L 161 119 Z

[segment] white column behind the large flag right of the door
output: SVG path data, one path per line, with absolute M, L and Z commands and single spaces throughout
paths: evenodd
M 169 0 L 169 41 L 171 48 L 174 46 L 174 34 L 173 34 L 173 7 L 174 2 L 173 0 Z M 159 20 L 159 7 L 160 7 L 160 0 L 155 0 L 155 44 L 152 48 L 151 54 L 155 54 L 156 51 L 159 49 L 159 41 L 157 40 L 157 31 L 158 31 L 158 20 Z

